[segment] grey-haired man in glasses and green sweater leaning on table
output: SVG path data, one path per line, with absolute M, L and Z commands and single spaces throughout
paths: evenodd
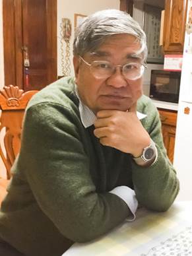
M 75 80 L 32 98 L 3 201 L 0 236 L 24 255 L 59 256 L 94 240 L 138 203 L 167 210 L 179 190 L 158 111 L 142 94 L 146 38 L 117 10 L 88 16 L 74 42 Z

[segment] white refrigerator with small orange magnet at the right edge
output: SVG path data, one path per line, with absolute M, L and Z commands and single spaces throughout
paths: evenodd
M 181 187 L 177 199 L 192 200 L 192 0 L 188 1 L 174 167 Z

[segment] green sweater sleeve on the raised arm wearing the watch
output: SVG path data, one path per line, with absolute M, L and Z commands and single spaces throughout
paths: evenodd
M 140 205 L 150 210 L 164 211 L 176 199 L 179 181 L 176 170 L 166 154 L 158 110 L 148 100 L 143 112 L 147 113 L 147 117 L 143 119 L 143 126 L 156 143 L 158 157 L 148 168 L 138 166 L 133 161 L 134 189 Z

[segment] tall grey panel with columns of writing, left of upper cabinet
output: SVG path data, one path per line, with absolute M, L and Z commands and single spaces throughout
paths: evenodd
M 147 63 L 164 63 L 164 55 L 160 47 L 160 25 L 162 9 L 152 5 L 144 5 L 143 30 L 146 33 L 148 48 Z

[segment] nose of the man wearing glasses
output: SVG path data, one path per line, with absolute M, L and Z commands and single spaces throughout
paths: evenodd
M 127 80 L 123 76 L 121 66 L 116 66 L 113 74 L 107 79 L 107 84 L 115 88 L 127 86 Z

